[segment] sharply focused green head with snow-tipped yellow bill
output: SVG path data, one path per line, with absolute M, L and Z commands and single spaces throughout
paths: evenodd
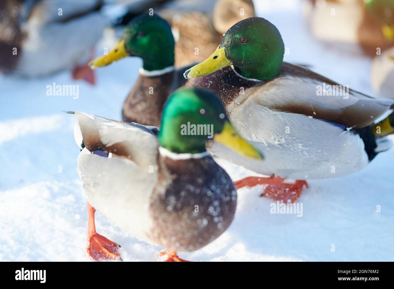
M 223 40 L 203 62 L 186 70 L 186 78 L 201 77 L 229 65 L 242 77 L 268 80 L 279 74 L 284 44 L 279 30 L 260 17 L 250 17 L 234 24 Z

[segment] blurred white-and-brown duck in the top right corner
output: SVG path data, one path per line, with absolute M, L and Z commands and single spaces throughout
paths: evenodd
M 394 1 L 310 0 L 310 27 L 315 37 L 356 44 L 367 55 L 394 45 Z

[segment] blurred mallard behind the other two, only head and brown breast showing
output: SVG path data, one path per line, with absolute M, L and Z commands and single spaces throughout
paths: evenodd
M 91 69 L 95 69 L 127 56 L 142 59 L 137 82 L 123 104 L 123 121 L 160 126 L 167 97 L 186 83 L 182 76 L 185 68 L 174 68 L 174 45 L 167 21 L 146 13 L 130 21 L 123 36 L 108 54 L 89 63 Z

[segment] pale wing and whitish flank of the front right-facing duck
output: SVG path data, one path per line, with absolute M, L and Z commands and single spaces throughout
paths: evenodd
M 145 239 L 149 198 L 158 179 L 155 129 L 75 114 L 85 144 L 77 171 L 88 201 L 123 230 Z

